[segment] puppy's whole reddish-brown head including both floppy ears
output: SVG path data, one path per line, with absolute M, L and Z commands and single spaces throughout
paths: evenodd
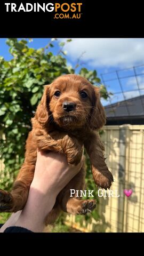
M 105 113 L 99 98 L 98 88 L 85 78 L 63 75 L 46 86 L 36 118 L 42 121 L 41 124 L 45 121 L 49 123 L 53 118 L 60 127 L 73 130 L 87 123 L 97 130 L 105 124 Z

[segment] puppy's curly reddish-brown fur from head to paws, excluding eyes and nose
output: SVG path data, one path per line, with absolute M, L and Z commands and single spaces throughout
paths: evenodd
M 55 91 L 60 91 L 59 97 L 55 97 Z M 81 97 L 82 91 L 87 93 L 86 98 Z M 67 113 L 62 107 L 63 102 L 74 102 L 76 107 Z M 98 134 L 98 130 L 106 122 L 98 87 L 78 75 L 58 77 L 51 85 L 45 86 L 42 100 L 31 122 L 33 129 L 26 142 L 25 162 L 11 193 L 0 191 L 0 211 L 16 212 L 25 206 L 34 177 L 37 149 L 63 153 L 69 164 L 77 165 L 83 157 L 85 147 L 95 183 L 101 188 L 110 188 L 113 175 L 105 163 L 104 147 Z M 83 161 L 79 173 L 60 191 L 53 210 L 46 218 L 46 224 L 53 222 L 60 210 L 71 214 L 85 214 L 94 209 L 94 200 L 70 197 L 70 189 L 84 189 L 84 180 Z

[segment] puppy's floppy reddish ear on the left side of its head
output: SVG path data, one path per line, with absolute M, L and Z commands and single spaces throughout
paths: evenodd
M 42 96 L 41 101 L 36 109 L 35 118 L 37 119 L 38 123 L 44 126 L 49 119 L 49 87 L 50 85 L 44 86 L 44 93 Z

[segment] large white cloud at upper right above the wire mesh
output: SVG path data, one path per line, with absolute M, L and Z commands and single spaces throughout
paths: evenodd
M 85 52 L 82 61 L 95 68 L 127 68 L 144 62 L 144 38 L 73 38 L 64 50 L 73 61 Z

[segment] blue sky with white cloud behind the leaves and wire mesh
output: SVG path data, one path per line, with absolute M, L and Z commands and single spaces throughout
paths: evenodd
M 44 47 L 50 40 L 51 38 L 33 38 L 33 42 L 29 42 L 28 45 L 38 49 Z M 59 42 L 65 40 L 62 38 L 55 41 L 55 47 L 51 48 L 51 51 L 57 54 Z M 6 38 L 0 38 L 0 56 L 10 60 L 9 46 L 5 41 Z M 111 102 L 144 94 L 144 38 L 73 38 L 73 41 L 67 43 L 63 50 L 67 52 L 68 65 L 75 67 L 77 59 L 82 55 L 81 67 L 96 69 L 100 78 L 103 74 L 108 91 L 114 93 Z M 133 67 L 137 68 L 133 70 Z M 134 71 L 137 74 L 137 80 Z M 121 84 L 118 82 L 117 74 Z M 126 76 L 129 77 L 126 78 Z M 121 93 L 117 94 L 117 92 Z M 104 100 L 102 103 L 108 104 Z

